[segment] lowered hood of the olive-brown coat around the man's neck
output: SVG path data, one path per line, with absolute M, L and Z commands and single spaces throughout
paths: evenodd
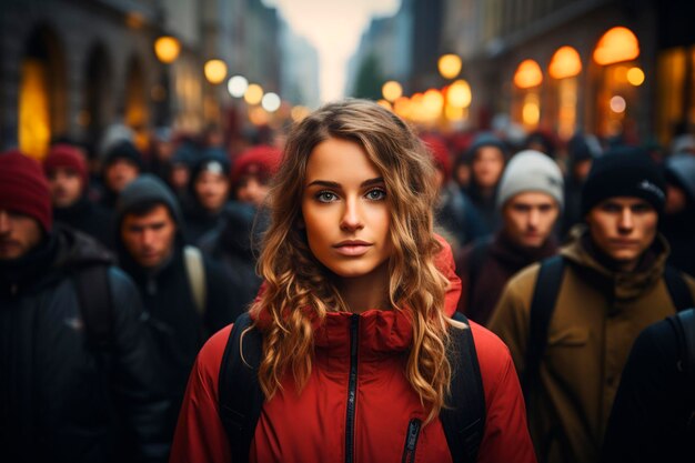
M 560 251 L 570 262 L 593 278 L 598 288 L 612 289 L 616 300 L 636 299 L 651 290 L 662 279 L 669 252 L 666 239 L 657 234 L 635 271 L 616 271 L 602 262 L 601 253 L 592 246 L 585 224 L 575 225 L 570 231 L 570 242 Z

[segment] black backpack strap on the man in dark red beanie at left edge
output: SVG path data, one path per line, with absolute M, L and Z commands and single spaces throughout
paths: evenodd
M 73 281 L 84 323 L 87 344 L 94 351 L 108 351 L 113 335 L 113 306 L 109 268 L 94 265 L 73 273 Z

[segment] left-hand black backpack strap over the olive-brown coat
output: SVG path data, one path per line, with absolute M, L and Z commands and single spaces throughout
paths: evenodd
M 562 284 L 565 260 L 557 254 L 541 262 L 536 285 L 531 300 L 528 319 L 528 342 L 526 344 L 526 366 L 522 386 L 524 399 L 528 401 L 530 387 L 538 379 L 541 359 L 547 345 L 547 330 L 555 310 L 555 302 Z

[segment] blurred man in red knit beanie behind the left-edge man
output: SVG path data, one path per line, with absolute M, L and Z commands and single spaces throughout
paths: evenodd
M 80 152 L 69 144 L 56 144 L 43 161 L 53 203 L 53 219 L 112 246 L 111 217 L 88 198 L 89 172 Z

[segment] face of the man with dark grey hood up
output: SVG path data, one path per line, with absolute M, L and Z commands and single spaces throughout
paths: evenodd
M 121 240 L 139 265 L 150 269 L 169 258 L 177 236 L 177 224 L 165 205 L 157 205 L 143 215 L 125 214 Z

